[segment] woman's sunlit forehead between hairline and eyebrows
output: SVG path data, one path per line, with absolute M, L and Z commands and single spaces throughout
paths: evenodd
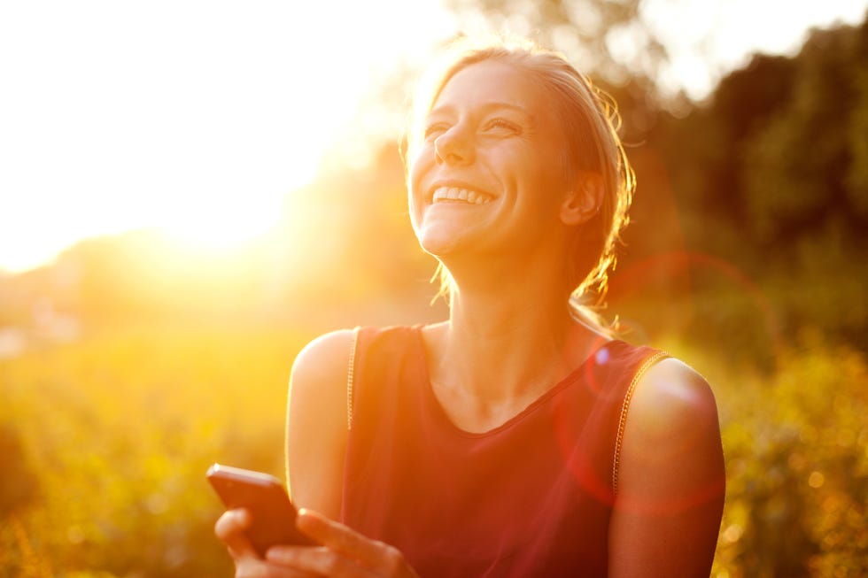
M 545 102 L 545 90 L 536 75 L 520 66 L 484 60 L 454 73 L 440 90 L 431 110 L 500 103 L 538 116 L 546 110 Z

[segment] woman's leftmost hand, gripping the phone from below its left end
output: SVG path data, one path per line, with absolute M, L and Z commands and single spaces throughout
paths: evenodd
M 226 544 L 229 556 L 235 562 L 236 578 L 310 578 L 314 575 L 260 558 L 244 534 L 251 522 L 250 512 L 238 509 L 223 512 L 214 525 L 214 534 Z

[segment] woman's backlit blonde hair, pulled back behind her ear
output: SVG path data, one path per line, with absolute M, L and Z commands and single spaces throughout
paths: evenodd
M 453 42 L 423 77 L 414 99 L 405 154 L 407 175 L 422 143 L 424 119 L 446 83 L 467 66 L 488 60 L 523 70 L 552 96 L 566 143 L 560 161 L 567 181 L 577 182 L 582 173 L 595 173 L 601 178 L 604 189 L 601 205 L 592 219 L 576 227 L 566 276 L 573 311 L 604 328 L 594 309 L 602 304 L 608 271 L 616 263 L 616 248 L 629 220 L 627 213 L 636 179 L 617 134 L 620 116 L 614 98 L 578 73 L 562 54 L 542 49 L 526 39 L 501 35 L 483 39 L 462 37 Z M 435 277 L 438 275 L 438 296 L 448 297 L 452 280 L 442 264 Z

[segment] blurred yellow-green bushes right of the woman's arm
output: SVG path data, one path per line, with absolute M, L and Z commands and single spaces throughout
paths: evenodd
M 771 374 L 683 353 L 721 413 L 727 489 L 712 575 L 868 572 L 868 360 L 815 332 L 799 341 Z

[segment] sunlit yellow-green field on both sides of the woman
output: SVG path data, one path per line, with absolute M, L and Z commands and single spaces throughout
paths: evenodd
M 126 328 L 0 362 L 4 576 L 229 576 L 213 461 L 283 474 L 311 335 Z M 868 366 L 802 335 L 771 370 L 659 343 L 713 384 L 727 502 L 713 575 L 868 572 Z

